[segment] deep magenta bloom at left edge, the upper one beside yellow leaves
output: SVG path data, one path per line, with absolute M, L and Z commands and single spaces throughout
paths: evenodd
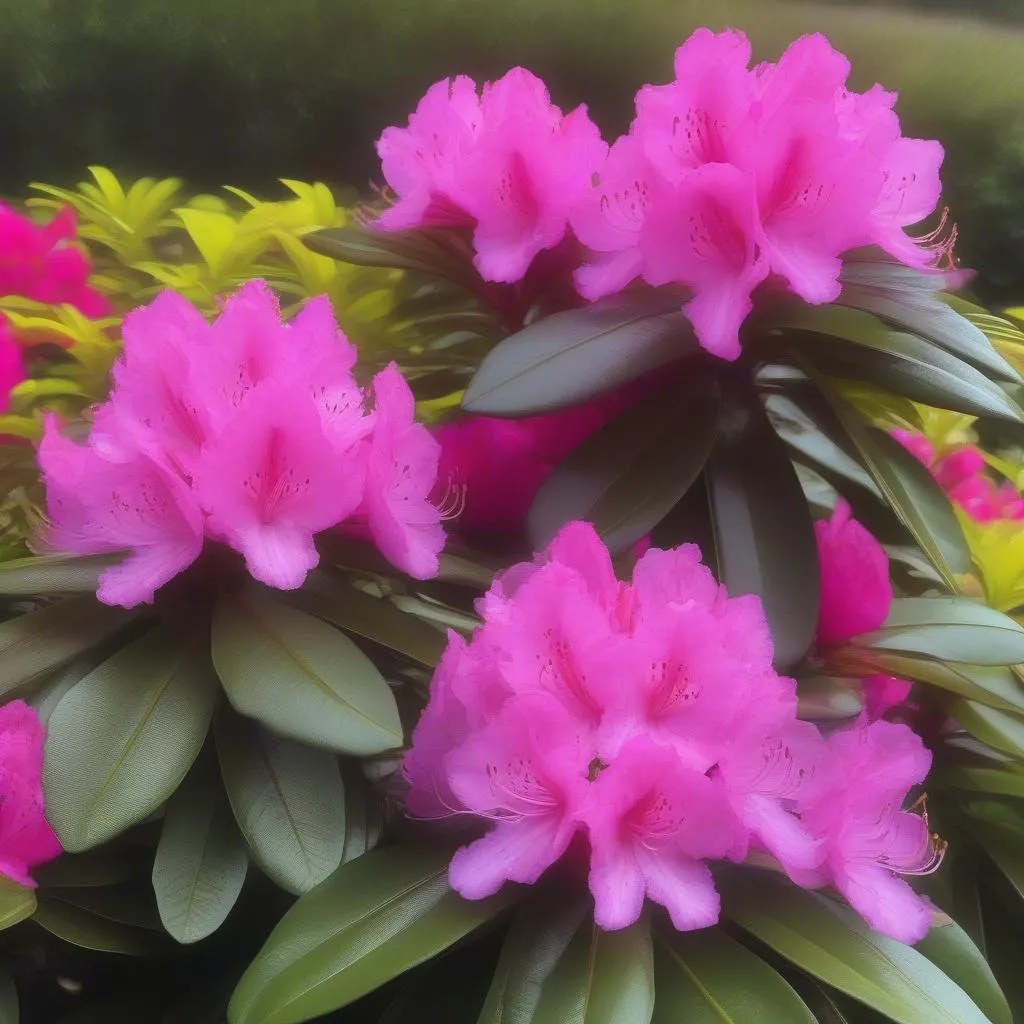
M 86 316 L 104 315 L 106 300 L 87 284 L 88 259 L 68 245 L 75 232 L 71 208 L 39 225 L 0 203 L 0 295 L 67 303 Z

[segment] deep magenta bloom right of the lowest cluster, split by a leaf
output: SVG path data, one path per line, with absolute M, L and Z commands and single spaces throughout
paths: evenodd
M 816 644 L 822 653 L 847 640 L 879 629 L 893 603 L 889 557 L 882 545 L 850 518 L 843 499 L 831 518 L 814 524 L 821 571 L 821 601 Z M 874 675 L 861 680 L 864 707 L 870 720 L 903 703 L 910 684 L 895 676 Z

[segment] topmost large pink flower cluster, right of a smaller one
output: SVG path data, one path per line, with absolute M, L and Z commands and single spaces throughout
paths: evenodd
M 904 232 L 935 208 L 942 147 L 901 136 L 893 93 L 850 92 L 849 61 L 823 36 L 798 39 L 774 65 L 752 69 L 750 57 L 741 33 L 695 32 L 675 81 L 637 94 L 629 134 L 571 218 L 593 253 L 581 294 L 637 278 L 685 286 L 697 340 L 727 359 L 769 274 L 830 302 L 848 250 L 877 245 L 925 268 L 951 246 Z

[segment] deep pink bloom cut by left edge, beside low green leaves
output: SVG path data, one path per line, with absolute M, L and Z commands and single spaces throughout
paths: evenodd
M 61 853 L 43 812 L 44 739 L 24 700 L 0 708 L 0 874 L 33 888 L 32 869 Z

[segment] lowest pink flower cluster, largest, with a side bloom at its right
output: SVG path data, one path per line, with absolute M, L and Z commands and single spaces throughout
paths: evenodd
M 927 823 L 901 810 L 930 755 L 902 725 L 859 719 L 825 739 L 799 721 L 760 601 L 728 597 L 694 546 L 648 550 L 626 584 L 593 527 L 570 523 L 478 610 L 468 644 L 450 637 L 404 762 L 412 815 L 492 826 L 452 861 L 463 896 L 534 883 L 589 845 L 600 927 L 649 897 L 678 929 L 705 928 L 720 912 L 707 862 L 758 851 L 889 935 L 927 932 L 898 873 L 935 860 Z

